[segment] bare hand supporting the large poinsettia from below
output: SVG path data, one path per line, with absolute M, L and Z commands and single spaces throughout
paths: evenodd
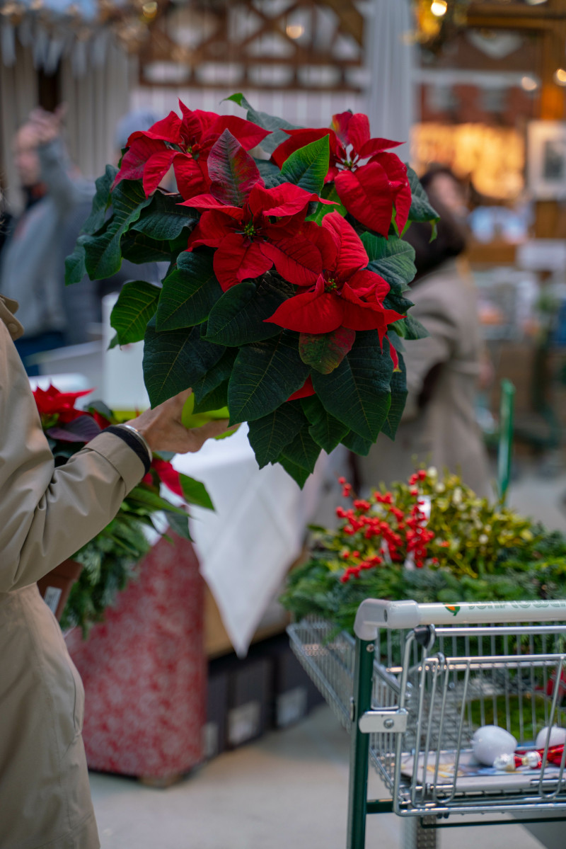
M 228 430 L 228 419 L 216 419 L 207 422 L 202 427 L 186 428 L 182 424 L 182 408 L 190 396 L 192 389 L 179 392 L 168 401 L 164 401 L 153 410 L 131 419 L 126 424 L 131 424 L 141 433 L 152 451 L 173 451 L 176 454 L 199 451 L 205 441 L 214 436 L 220 436 Z M 230 430 L 236 430 L 235 424 Z

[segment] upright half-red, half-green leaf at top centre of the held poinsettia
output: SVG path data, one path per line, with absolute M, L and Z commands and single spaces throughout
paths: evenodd
M 230 206 L 242 206 L 260 172 L 253 158 L 244 150 L 229 130 L 213 144 L 206 160 L 210 180 L 210 194 Z

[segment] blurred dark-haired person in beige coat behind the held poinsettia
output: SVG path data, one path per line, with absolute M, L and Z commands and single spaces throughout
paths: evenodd
M 411 315 L 429 331 L 425 339 L 407 341 L 408 396 L 391 443 L 379 436 L 367 458 L 358 459 L 362 486 L 406 481 L 417 464 L 434 465 L 462 475 L 478 495 L 490 494 L 490 476 L 475 415 L 482 371 L 480 335 L 473 279 L 462 273 L 458 257 L 466 247 L 467 207 L 461 183 L 448 168 L 428 171 L 421 183 L 440 215 L 433 241 L 431 225 L 412 223 L 404 239 L 415 249 L 417 275 L 408 298 Z

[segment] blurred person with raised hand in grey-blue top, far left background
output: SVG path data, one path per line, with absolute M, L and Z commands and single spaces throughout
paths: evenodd
M 14 137 L 14 162 L 25 194 L 25 209 L 8 223 L 0 253 L 0 291 L 19 301 L 25 335 L 16 341 L 20 357 L 65 343 L 62 228 L 81 200 L 92 197 L 64 148 L 64 105 L 55 112 L 33 110 Z M 25 363 L 28 374 L 38 368 Z

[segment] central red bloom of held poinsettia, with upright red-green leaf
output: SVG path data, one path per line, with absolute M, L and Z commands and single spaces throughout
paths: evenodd
M 224 134 L 210 154 L 210 173 L 217 177 L 210 194 L 186 201 L 193 209 L 204 210 L 188 239 L 188 250 L 199 245 L 216 248 L 214 271 L 224 291 L 273 266 L 291 283 L 313 284 L 322 272 L 322 259 L 302 231 L 307 207 L 318 200 L 317 194 L 293 183 L 265 188 L 254 160 L 228 136 Z M 221 180 L 228 156 L 231 177 L 238 173 L 233 184 Z M 232 199 L 238 205 L 231 204 Z

